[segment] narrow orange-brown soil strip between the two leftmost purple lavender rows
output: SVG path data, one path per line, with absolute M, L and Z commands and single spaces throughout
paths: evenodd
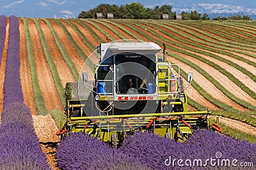
M 4 48 L 3 48 L 3 56 L 0 66 L 0 115 L 4 110 L 4 78 L 5 78 L 5 68 L 6 68 L 6 60 L 7 60 L 7 50 L 9 44 L 9 27 L 10 27 L 10 18 L 7 18 L 7 25 L 6 25 L 6 35 L 4 41 Z

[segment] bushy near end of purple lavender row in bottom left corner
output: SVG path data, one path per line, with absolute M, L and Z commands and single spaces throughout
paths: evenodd
M 29 108 L 21 103 L 10 104 L 1 119 L 1 169 L 51 169 L 40 148 Z

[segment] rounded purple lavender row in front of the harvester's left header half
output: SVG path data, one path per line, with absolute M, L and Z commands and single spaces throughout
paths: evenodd
M 70 134 L 56 148 L 60 169 L 148 169 L 138 160 L 82 132 Z

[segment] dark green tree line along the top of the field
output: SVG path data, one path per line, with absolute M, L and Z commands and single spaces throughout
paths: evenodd
M 113 13 L 114 19 L 161 19 L 163 14 L 168 15 L 168 19 L 176 19 L 177 13 L 172 11 L 172 6 L 164 4 L 163 6 L 155 6 L 152 8 L 145 8 L 141 3 L 131 3 L 117 6 L 115 4 L 100 4 L 88 11 L 81 11 L 78 18 L 95 18 L 96 13 L 102 13 L 103 18 L 107 13 Z M 203 15 L 198 11 L 191 11 L 190 13 L 182 11 L 180 14 L 182 20 L 210 20 L 207 13 Z M 216 17 L 212 20 L 252 20 L 248 15 L 241 17 L 240 15 L 234 17 Z

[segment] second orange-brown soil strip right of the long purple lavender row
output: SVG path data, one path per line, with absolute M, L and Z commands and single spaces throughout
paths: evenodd
M 44 49 L 35 22 L 28 18 L 29 31 L 31 34 L 33 55 L 36 63 L 38 83 L 44 96 L 45 106 L 48 111 L 63 110 L 60 97 L 52 80 L 51 70 L 45 59 Z

